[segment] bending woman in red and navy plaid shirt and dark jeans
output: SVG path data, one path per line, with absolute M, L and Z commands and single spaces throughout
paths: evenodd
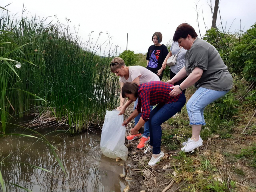
M 131 134 L 136 135 L 145 122 L 149 121 L 150 141 L 148 149 L 153 152 L 151 160 L 148 162 L 150 166 L 155 165 L 164 156 L 161 151 L 161 124 L 179 112 L 186 103 L 183 92 L 176 97 L 169 95 L 172 86 L 162 81 L 151 81 L 141 85 L 127 82 L 122 87 L 123 98 L 128 98 L 131 101 L 136 101 L 139 98 L 137 108 L 124 120 L 123 125 L 127 125 L 141 113 L 139 122 L 131 130 Z M 156 104 L 157 106 L 150 112 L 150 105 Z

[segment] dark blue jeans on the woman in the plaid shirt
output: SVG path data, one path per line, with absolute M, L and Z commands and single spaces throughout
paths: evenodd
M 181 110 L 186 103 L 185 94 L 182 93 L 178 101 L 163 106 L 157 105 L 150 113 L 149 117 L 149 144 L 153 146 L 153 154 L 161 152 L 162 128 L 161 124 Z

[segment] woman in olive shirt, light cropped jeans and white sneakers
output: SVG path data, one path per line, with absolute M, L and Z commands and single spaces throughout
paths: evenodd
M 189 152 L 202 146 L 201 126 L 205 125 L 204 108 L 225 95 L 233 85 L 233 78 L 227 70 L 220 54 L 208 42 L 198 39 L 195 29 L 187 23 L 180 24 L 173 36 L 173 41 L 188 50 L 185 55 L 185 67 L 167 83 L 175 82 L 188 76 L 180 85 L 173 87 L 170 96 L 175 97 L 183 89 L 195 84 L 196 91 L 186 104 L 189 124 L 192 125 L 192 137 L 183 143 L 182 151 Z

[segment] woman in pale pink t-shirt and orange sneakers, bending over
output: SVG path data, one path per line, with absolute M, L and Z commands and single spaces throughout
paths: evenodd
M 121 89 L 126 82 L 135 82 L 138 85 L 150 81 L 160 81 L 159 77 L 151 72 L 150 70 L 146 69 L 142 66 L 130 66 L 126 67 L 124 64 L 124 61 L 120 57 L 115 57 L 112 59 L 110 64 L 110 69 L 112 73 L 115 73 L 117 76 L 119 76 L 119 82 Z M 122 97 L 122 94 L 120 93 L 120 106 L 117 107 L 117 110 L 120 110 L 119 115 L 122 115 L 126 108 L 133 102 L 133 101 L 127 101 L 124 104 L 125 98 Z M 133 110 L 137 107 L 138 99 L 134 102 Z M 152 110 L 153 106 L 151 106 Z M 140 114 L 134 118 L 135 125 L 138 123 L 140 119 Z M 126 138 L 130 141 L 133 141 L 136 138 L 139 138 L 141 134 L 137 135 L 129 135 Z M 138 149 L 142 149 L 145 147 L 145 144 L 149 142 L 149 125 L 148 122 L 144 125 L 144 133 L 142 135 L 142 138 L 140 139 L 139 144 L 137 145 Z

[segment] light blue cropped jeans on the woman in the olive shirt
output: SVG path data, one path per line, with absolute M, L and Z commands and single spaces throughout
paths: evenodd
M 230 90 L 230 89 L 229 89 Z M 204 108 L 225 95 L 229 90 L 216 91 L 207 88 L 198 88 L 187 102 L 187 111 L 190 125 L 205 125 Z

